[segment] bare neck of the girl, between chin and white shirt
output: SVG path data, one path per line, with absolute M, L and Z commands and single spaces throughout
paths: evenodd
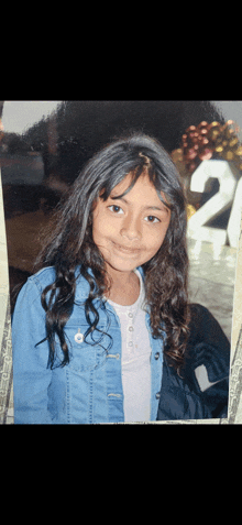
M 110 277 L 112 284 L 106 294 L 107 299 L 122 306 L 133 305 L 140 295 L 139 276 L 134 272 L 114 272 Z

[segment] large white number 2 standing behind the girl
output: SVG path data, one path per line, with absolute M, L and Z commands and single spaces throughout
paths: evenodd
M 188 221 L 188 237 L 202 241 L 218 242 L 238 247 L 242 204 L 242 177 L 231 169 L 227 161 L 204 161 L 190 181 L 191 192 L 205 192 L 206 184 L 211 178 L 218 178 L 219 192 L 211 197 Z M 205 226 L 232 205 L 227 230 Z

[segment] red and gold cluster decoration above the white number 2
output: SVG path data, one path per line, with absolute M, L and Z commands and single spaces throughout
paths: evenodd
M 200 122 L 197 127 L 189 125 L 182 136 L 178 150 L 172 152 L 177 164 L 183 164 L 188 174 L 191 174 L 201 161 L 223 158 L 233 161 L 239 171 L 242 171 L 242 145 L 238 138 L 239 127 L 233 120 L 224 124 L 219 122 Z

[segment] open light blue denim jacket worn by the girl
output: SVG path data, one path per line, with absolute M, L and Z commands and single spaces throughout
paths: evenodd
M 140 269 L 141 270 L 141 269 Z M 22 287 L 12 319 L 13 395 L 15 424 L 94 424 L 124 420 L 121 370 L 121 329 L 119 317 L 108 303 L 110 338 L 101 344 L 88 344 L 84 335 L 88 328 L 84 303 L 89 284 L 78 277 L 75 306 L 65 333 L 70 361 L 65 367 L 47 368 L 48 342 L 35 344 L 46 337 L 45 311 L 41 305 L 43 289 L 55 280 L 55 270 L 46 267 L 29 277 Z M 99 299 L 98 328 L 106 330 L 107 314 Z M 156 420 L 163 372 L 163 340 L 151 335 L 150 316 L 146 327 L 151 341 L 151 420 Z M 97 332 L 97 340 L 99 333 Z M 90 338 L 90 336 L 88 336 Z M 87 338 L 87 340 L 88 340 Z M 91 339 L 90 339 L 91 342 Z M 105 347 L 105 348 L 103 348 Z M 63 352 L 56 338 L 56 360 Z M 57 362 L 56 361 L 56 362 Z

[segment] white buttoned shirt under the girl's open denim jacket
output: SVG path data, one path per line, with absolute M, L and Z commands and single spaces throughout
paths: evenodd
M 109 300 L 116 309 L 122 336 L 122 385 L 124 422 L 148 422 L 151 417 L 151 343 L 145 325 L 144 284 L 140 278 L 140 295 L 130 306 Z

